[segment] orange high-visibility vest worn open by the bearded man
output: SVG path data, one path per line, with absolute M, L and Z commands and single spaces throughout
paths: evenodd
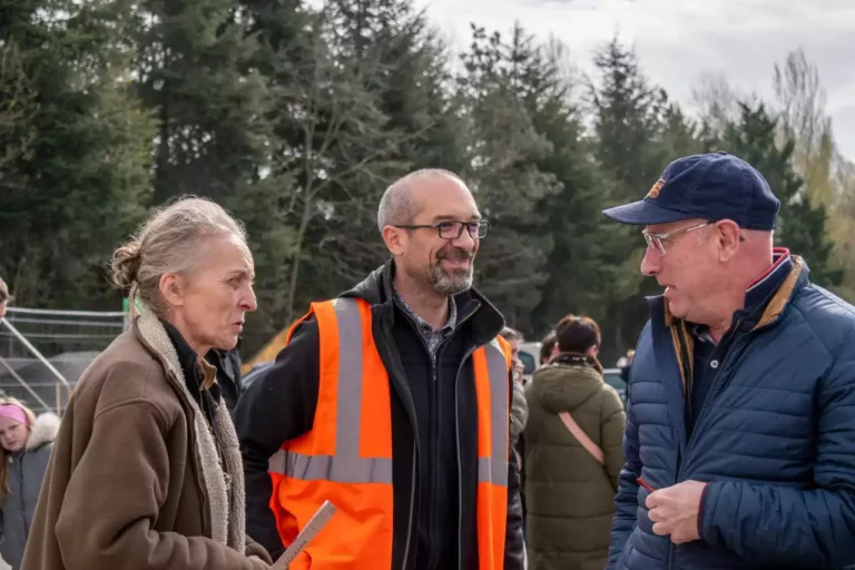
M 371 307 L 363 299 L 337 298 L 313 303 L 312 314 L 321 342 L 315 419 L 312 431 L 286 441 L 271 458 L 271 509 L 284 544 L 294 541 L 325 500 L 338 509 L 291 570 L 391 570 L 392 409 L 389 375 L 372 335 Z M 510 345 L 497 338 L 478 348 L 472 361 L 479 570 L 501 570 L 508 522 Z

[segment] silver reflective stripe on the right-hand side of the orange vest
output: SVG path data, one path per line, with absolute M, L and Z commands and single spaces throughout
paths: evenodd
M 490 417 L 492 430 L 491 458 L 478 458 L 478 481 L 494 485 L 508 485 L 508 426 L 511 386 L 508 384 L 508 361 L 498 341 L 484 346 L 487 370 L 490 374 Z

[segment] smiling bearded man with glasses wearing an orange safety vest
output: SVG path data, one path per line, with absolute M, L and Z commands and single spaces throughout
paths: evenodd
M 312 303 L 238 403 L 247 533 L 276 558 L 330 500 L 292 570 L 521 570 L 510 346 L 472 287 L 489 224 L 439 169 L 390 186 L 377 223 L 392 258 Z

